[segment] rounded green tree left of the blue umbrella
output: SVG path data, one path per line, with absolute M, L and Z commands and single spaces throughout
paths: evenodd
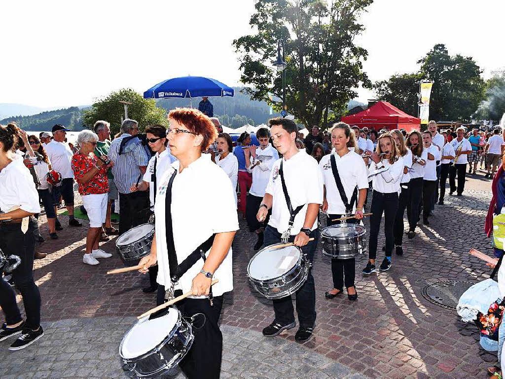
M 120 101 L 132 103 L 128 105 L 128 117 L 137 120 L 141 130 L 147 125 L 168 125 L 165 110 L 157 108 L 154 100 L 144 99 L 131 88 L 111 92 L 105 99 L 97 101 L 90 109 L 85 110 L 82 117 L 84 125 L 92 128 L 96 120 L 106 120 L 111 123 L 113 134 L 119 132 L 121 119 L 124 118 L 124 106 Z

